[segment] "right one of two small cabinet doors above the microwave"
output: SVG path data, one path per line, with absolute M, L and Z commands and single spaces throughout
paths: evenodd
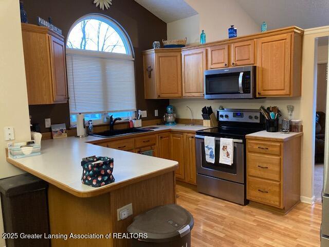
M 236 42 L 231 45 L 231 65 L 254 64 L 254 40 Z

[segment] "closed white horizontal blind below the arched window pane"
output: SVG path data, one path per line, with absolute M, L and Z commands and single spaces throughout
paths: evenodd
M 70 114 L 136 111 L 133 58 L 95 54 L 66 54 Z

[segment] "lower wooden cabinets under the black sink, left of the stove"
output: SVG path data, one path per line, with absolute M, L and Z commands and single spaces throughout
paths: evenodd
M 165 132 L 143 134 L 138 137 L 122 137 L 106 140 L 95 145 L 142 153 L 152 150 L 153 156 L 178 162 L 176 178 L 190 184 L 196 184 L 195 138 L 194 133 Z M 93 143 L 93 142 L 92 142 Z

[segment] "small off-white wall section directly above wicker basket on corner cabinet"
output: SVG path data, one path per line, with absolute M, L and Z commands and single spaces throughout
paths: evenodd
M 193 15 L 182 20 L 167 23 L 167 39 L 181 40 L 187 38 L 187 44 L 200 42 L 199 15 Z

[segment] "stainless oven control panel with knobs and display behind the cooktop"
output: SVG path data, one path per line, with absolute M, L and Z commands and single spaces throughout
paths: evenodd
M 218 121 L 231 122 L 262 122 L 262 115 L 259 110 L 248 109 L 223 109 L 217 110 Z

